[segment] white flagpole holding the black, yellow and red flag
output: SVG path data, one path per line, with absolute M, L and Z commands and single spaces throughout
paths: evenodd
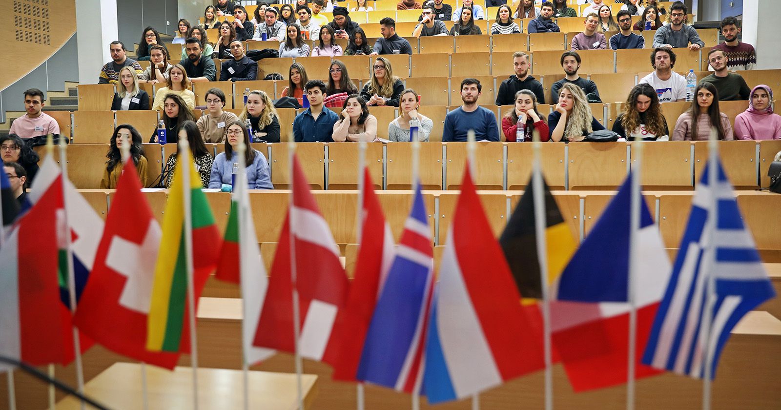
M 548 294 L 547 237 L 545 237 L 545 197 L 542 184 L 542 143 L 540 132 L 533 130 L 534 165 L 532 193 L 534 203 L 534 231 L 537 237 L 537 261 L 540 264 L 540 292 L 542 293 L 543 357 L 545 361 L 545 410 L 553 409 L 553 356 L 551 348 L 551 296 Z

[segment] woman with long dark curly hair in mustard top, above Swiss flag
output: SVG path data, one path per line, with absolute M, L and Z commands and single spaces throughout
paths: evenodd
M 105 155 L 109 160 L 105 162 L 103 178 L 100 180 L 100 189 L 116 189 L 119 176 L 122 175 L 124 164 L 122 162 L 122 148 L 130 146 L 130 159 L 136 166 L 141 187 L 147 184 L 147 159 L 144 157 L 144 148 L 141 147 L 141 134 L 130 124 L 116 126 L 109 143 L 109 152 Z

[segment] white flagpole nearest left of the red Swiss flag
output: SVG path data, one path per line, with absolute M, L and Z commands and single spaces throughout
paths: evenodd
M 63 219 L 63 225 L 64 225 L 64 237 L 62 239 L 65 240 L 65 250 L 66 250 L 66 264 L 67 264 L 67 276 L 68 276 L 68 298 L 70 298 L 70 312 L 73 314 L 76 312 L 76 278 L 73 277 L 74 271 L 73 271 L 73 244 L 70 242 L 70 218 L 68 218 L 68 160 L 66 155 L 66 148 L 68 145 L 65 142 L 64 137 L 60 137 L 59 139 L 59 164 L 62 169 L 62 205 L 65 209 L 65 212 L 62 212 L 62 219 Z M 76 354 L 75 363 L 76 363 L 76 381 L 78 386 L 78 391 L 80 394 L 84 394 L 84 370 L 81 366 L 81 344 L 79 340 L 79 330 L 76 329 L 76 326 L 73 326 L 72 329 L 73 332 L 73 350 Z M 84 401 L 81 401 L 81 410 L 84 410 L 87 408 Z

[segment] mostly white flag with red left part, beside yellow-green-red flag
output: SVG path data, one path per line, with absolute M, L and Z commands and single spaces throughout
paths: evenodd
M 276 351 L 255 348 L 252 345 L 263 301 L 269 288 L 269 278 L 260 255 L 258 237 L 255 236 L 255 223 L 252 221 L 252 211 L 249 206 L 247 172 L 243 164 L 236 176 L 236 189 L 231 195 L 230 216 L 225 228 L 223 251 L 219 255 L 215 277 L 241 285 L 241 298 L 244 299 L 241 343 L 245 362 L 247 365 L 254 365 L 271 357 Z

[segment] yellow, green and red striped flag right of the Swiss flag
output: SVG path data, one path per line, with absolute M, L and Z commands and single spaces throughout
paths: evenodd
M 184 160 L 187 157 L 187 160 Z M 184 173 L 190 173 L 190 186 L 184 191 Z M 195 170 L 192 155 L 180 152 L 173 171 L 173 185 L 168 194 L 162 220 L 160 251 L 155 263 L 152 300 L 147 324 L 147 349 L 150 351 L 190 352 L 190 329 L 187 320 L 187 258 L 192 257 L 194 302 L 203 291 L 209 274 L 216 267 L 222 239 L 214 223 L 212 210 L 201 191 L 201 176 Z M 185 198 L 185 194 L 189 198 Z M 189 203 L 189 209 L 185 204 Z M 192 255 L 185 249 L 184 220 L 192 226 Z

